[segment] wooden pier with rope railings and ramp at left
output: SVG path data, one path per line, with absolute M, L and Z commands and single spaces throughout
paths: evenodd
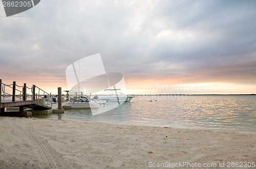
M 29 92 L 28 90 L 31 91 Z M 19 110 L 9 112 L 6 111 L 7 107 L 19 107 Z M 0 79 L 0 116 L 12 116 L 12 114 L 17 116 L 23 115 L 24 112 L 27 112 L 25 110 L 26 107 L 31 108 L 33 113 L 37 115 L 51 114 L 53 112 L 51 94 L 48 94 L 35 85 L 28 88 L 26 83 L 23 86 L 18 86 L 15 81 L 10 85 L 6 85 Z M 56 112 L 63 113 L 60 108 Z M 25 116 L 29 116 L 29 113 Z

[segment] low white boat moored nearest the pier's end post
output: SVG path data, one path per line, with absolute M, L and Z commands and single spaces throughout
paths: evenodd
M 98 103 L 87 97 L 71 100 L 68 102 L 68 105 L 72 108 L 99 108 Z

